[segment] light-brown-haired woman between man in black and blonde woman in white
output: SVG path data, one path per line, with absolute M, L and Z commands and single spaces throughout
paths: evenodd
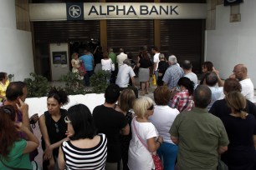
M 118 103 L 115 106 L 115 110 L 122 112 L 129 123 L 131 128 L 131 119 L 133 117 L 133 113 L 131 112 L 131 108 L 136 100 L 136 95 L 133 90 L 130 88 L 126 88 L 120 92 L 120 97 L 118 99 Z M 130 129 L 131 132 L 131 129 Z M 120 144 L 121 144 L 121 157 L 123 162 L 123 170 L 128 170 L 128 150 L 131 141 L 131 133 L 129 135 L 120 135 Z

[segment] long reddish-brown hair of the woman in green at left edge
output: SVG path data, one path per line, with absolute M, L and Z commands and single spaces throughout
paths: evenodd
M 0 154 L 8 159 L 13 144 L 18 141 L 19 135 L 14 125 L 16 112 L 11 105 L 0 107 Z

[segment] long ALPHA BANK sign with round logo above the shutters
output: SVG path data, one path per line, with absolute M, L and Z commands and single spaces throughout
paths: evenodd
M 31 21 L 100 19 L 205 19 L 207 3 L 30 3 Z

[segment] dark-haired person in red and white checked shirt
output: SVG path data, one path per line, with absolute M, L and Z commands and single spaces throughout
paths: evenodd
M 177 90 L 180 92 L 177 92 L 173 97 L 171 107 L 177 108 L 179 112 L 184 110 L 190 111 L 194 106 L 194 82 L 192 82 L 188 77 L 181 77 L 177 82 Z

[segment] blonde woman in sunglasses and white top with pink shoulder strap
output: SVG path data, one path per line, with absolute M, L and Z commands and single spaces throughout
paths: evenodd
M 132 138 L 128 152 L 128 167 L 131 170 L 155 169 L 151 154 L 156 153 L 163 139 L 148 120 L 154 113 L 154 103 L 150 97 L 141 97 L 136 99 L 133 109 L 136 117 L 131 122 Z

